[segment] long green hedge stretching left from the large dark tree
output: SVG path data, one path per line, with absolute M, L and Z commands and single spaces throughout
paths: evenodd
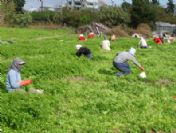
M 129 14 L 120 7 L 101 7 L 99 10 L 84 9 L 70 10 L 63 8 L 59 12 L 42 11 L 32 12 L 33 22 L 52 22 L 67 24 L 68 26 L 78 27 L 92 22 L 101 22 L 108 26 L 118 24 L 128 24 Z

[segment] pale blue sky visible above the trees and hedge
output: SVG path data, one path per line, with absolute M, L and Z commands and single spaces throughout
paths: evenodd
M 58 7 L 59 5 L 62 5 L 65 3 L 66 0 L 43 0 L 45 7 Z M 111 4 L 111 0 L 104 0 L 107 4 Z M 164 7 L 166 7 L 166 3 L 168 0 L 159 0 L 160 4 Z M 173 0 L 174 4 L 176 4 L 176 0 Z M 116 5 L 121 5 L 123 0 L 114 0 L 114 3 Z M 126 2 L 131 2 L 131 0 L 126 0 Z M 40 0 L 26 0 L 26 4 L 24 6 L 24 9 L 30 9 L 30 8 L 39 8 L 41 5 Z

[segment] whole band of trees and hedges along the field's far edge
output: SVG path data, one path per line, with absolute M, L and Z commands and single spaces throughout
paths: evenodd
M 66 21 L 70 20 L 70 22 L 67 22 L 70 26 L 87 24 L 91 21 L 104 22 L 108 26 L 125 24 L 134 28 L 140 23 L 147 23 L 153 27 L 156 21 L 176 23 L 176 16 L 174 16 L 175 5 L 173 0 L 168 0 L 166 7 L 162 7 L 160 5 L 160 1 L 132 0 L 132 3 L 124 1 L 120 7 L 105 5 L 104 7 L 100 7 L 100 9 L 97 11 L 90 11 L 88 9 L 86 9 L 86 11 L 69 11 L 63 9 L 61 13 L 40 12 L 31 13 L 30 15 L 32 16 L 33 22 L 36 20 L 39 21 L 40 18 L 40 21 L 49 21 L 54 23 L 65 23 Z M 21 20 L 24 20 L 24 18 L 30 17 L 30 15 L 26 15 L 26 12 L 23 10 L 24 4 L 25 0 L 2 0 L 1 7 L 4 8 L 1 8 L 0 10 L 1 12 L 5 12 L 5 15 L 7 16 L 10 14 L 10 17 L 5 17 L 7 18 L 6 20 L 8 20 L 8 18 L 20 19 L 20 17 L 22 17 Z M 69 13 L 73 15 L 70 16 Z M 23 14 L 25 14 L 25 17 Z M 83 17 L 80 16 L 79 19 L 75 18 L 79 15 L 82 15 Z M 13 22 L 12 20 L 10 21 Z

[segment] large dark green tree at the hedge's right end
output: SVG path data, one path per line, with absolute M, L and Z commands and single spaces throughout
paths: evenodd
M 147 23 L 153 26 L 156 14 L 149 0 L 132 0 L 131 24 L 137 27 L 140 23 Z

